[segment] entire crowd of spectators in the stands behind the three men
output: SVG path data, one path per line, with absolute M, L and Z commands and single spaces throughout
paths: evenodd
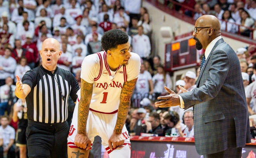
M 216 15 L 222 30 L 228 32 L 251 36 L 248 27 L 256 27 L 256 0 L 177 2 L 194 8 L 195 12 L 192 12 L 175 6 L 178 12 L 194 19 L 202 14 Z M 0 128 L 0 156 L 4 153 L 11 158 L 14 152 L 12 148 L 15 148 L 15 141 L 12 140 L 15 137 L 12 136 L 12 127 L 17 130 L 17 122 L 12 120 L 12 106 L 17 102 L 14 76 L 22 78 L 27 70 L 41 64 L 39 51 L 42 42 L 52 37 L 61 43 L 62 55 L 58 66 L 71 71 L 80 83 L 83 58 L 102 51 L 101 37 L 110 29 L 121 29 L 128 33 L 131 51 L 142 58 L 130 115 L 126 120 L 129 132 L 136 135 L 148 133 L 193 137 L 193 113 L 190 110 L 184 112 L 177 107 L 156 108 L 154 102 L 157 96 L 166 94 L 164 86 L 176 93 L 182 93 L 179 86 L 187 91 L 192 90 L 198 73 L 186 72 L 173 87 L 171 74 L 164 70 L 161 58 L 151 55 L 151 25 L 152 19 L 147 8 L 142 7 L 141 0 L 0 0 L 0 115 L 1 127 L 5 129 Z M 246 97 L 251 115 L 256 113 L 253 95 L 253 81 L 256 79 L 256 67 L 253 65 L 256 63 L 255 51 L 255 46 L 237 50 L 241 72 L 249 76 L 245 77 L 244 85 L 248 89 Z M 11 133 L 10 137 L 5 137 L 4 131 Z

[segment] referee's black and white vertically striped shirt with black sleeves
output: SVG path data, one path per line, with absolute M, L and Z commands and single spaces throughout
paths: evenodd
M 38 66 L 22 77 L 22 84 L 31 88 L 26 97 L 28 120 L 59 123 L 67 120 L 68 98 L 76 101 L 79 89 L 74 75 L 57 67 L 54 74 Z

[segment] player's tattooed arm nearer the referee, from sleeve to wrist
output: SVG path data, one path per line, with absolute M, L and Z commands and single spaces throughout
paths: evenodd
M 89 115 L 92 99 L 93 83 L 90 84 L 81 79 L 81 98 L 78 104 L 78 133 L 86 134 L 86 123 Z

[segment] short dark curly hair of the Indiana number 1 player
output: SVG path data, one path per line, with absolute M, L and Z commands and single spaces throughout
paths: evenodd
M 104 33 L 101 38 L 102 48 L 107 52 L 113 48 L 117 48 L 118 45 L 122 45 L 128 42 L 128 34 L 119 30 L 111 29 Z

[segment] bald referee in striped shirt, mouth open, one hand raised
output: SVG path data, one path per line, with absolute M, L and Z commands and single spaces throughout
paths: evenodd
M 42 65 L 21 79 L 16 76 L 15 94 L 26 98 L 26 131 L 29 158 L 67 158 L 68 98 L 76 101 L 78 83 L 71 72 L 57 67 L 60 43 L 54 38 L 43 41 Z

